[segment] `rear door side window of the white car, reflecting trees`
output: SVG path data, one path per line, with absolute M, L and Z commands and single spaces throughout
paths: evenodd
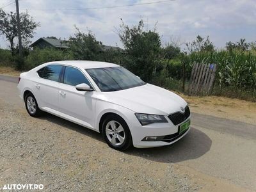
M 61 65 L 48 65 L 38 70 L 37 74 L 39 77 L 49 79 L 51 81 L 59 81 Z

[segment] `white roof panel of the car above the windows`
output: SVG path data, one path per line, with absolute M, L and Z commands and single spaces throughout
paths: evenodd
M 45 64 L 59 64 L 59 65 L 70 65 L 78 68 L 102 68 L 102 67 L 120 67 L 114 63 L 107 63 L 102 61 L 52 61 Z

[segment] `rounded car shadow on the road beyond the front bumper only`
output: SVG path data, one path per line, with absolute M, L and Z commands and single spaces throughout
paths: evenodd
M 172 145 L 156 148 L 133 148 L 125 153 L 132 156 L 140 156 L 151 161 L 178 163 L 203 156 L 210 150 L 211 145 L 212 140 L 209 136 L 191 127 L 186 136 Z

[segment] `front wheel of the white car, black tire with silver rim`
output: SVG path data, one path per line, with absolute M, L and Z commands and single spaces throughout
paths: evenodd
M 118 115 L 109 115 L 102 124 L 103 138 L 115 150 L 127 150 L 132 146 L 132 136 L 125 120 Z

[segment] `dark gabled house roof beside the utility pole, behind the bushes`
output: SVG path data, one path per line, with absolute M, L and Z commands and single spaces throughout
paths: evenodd
M 68 49 L 67 46 L 67 41 L 64 40 L 59 40 L 59 39 L 55 39 L 55 38 L 45 38 L 45 37 L 41 37 L 38 40 L 36 40 L 35 42 L 33 42 L 33 44 L 29 45 L 29 47 L 38 47 L 40 49 L 44 49 L 46 47 L 55 47 L 58 49 Z

